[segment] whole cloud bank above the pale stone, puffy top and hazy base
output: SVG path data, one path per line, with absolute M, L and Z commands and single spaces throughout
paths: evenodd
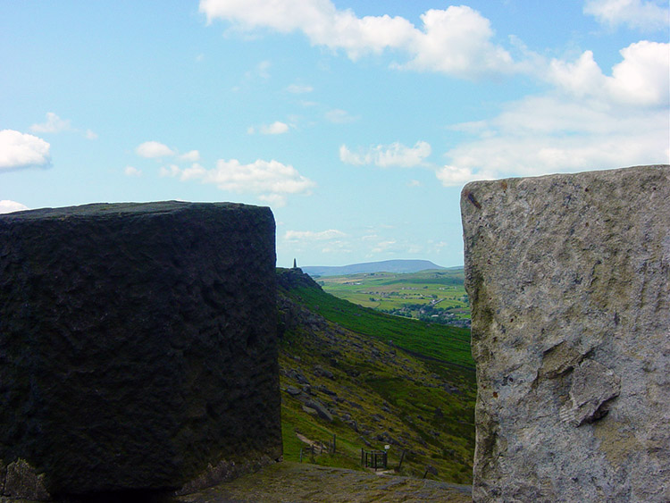
M 556 88 L 509 103 L 497 117 L 452 126 L 472 135 L 447 152 L 444 185 L 506 176 L 670 163 L 670 45 L 642 40 L 606 75 L 589 51 L 552 60 Z

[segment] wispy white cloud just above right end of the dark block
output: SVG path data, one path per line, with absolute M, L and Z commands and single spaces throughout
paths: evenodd
M 166 170 L 162 174 L 169 176 L 171 172 Z M 309 194 L 310 189 L 316 185 L 291 165 L 262 159 L 249 164 L 239 163 L 237 159 L 219 159 L 216 167 L 211 170 L 194 163 L 180 171 L 180 180 L 201 180 L 222 190 L 256 194 L 262 200 L 275 205 L 286 204 L 289 194 Z

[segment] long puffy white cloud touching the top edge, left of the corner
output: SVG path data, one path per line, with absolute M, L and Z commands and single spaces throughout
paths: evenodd
M 314 46 L 344 50 L 352 60 L 393 50 L 407 55 L 399 68 L 465 78 L 515 71 L 511 55 L 491 42 L 490 21 L 465 5 L 431 9 L 418 28 L 399 16 L 359 18 L 330 0 L 201 0 L 200 12 L 241 30 L 300 31 Z

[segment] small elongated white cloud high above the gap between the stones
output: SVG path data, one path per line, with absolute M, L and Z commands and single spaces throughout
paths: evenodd
M 423 160 L 429 155 L 431 155 L 431 145 L 425 141 L 417 141 L 414 147 L 406 147 L 398 142 L 390 145 L 377 145 L 358 153 L 351 152 L 346 145 L 339 147 L 339 159 L 343 163 L 359 166 L 375 164 L 382 168 L 415 167 L 423 165 Z

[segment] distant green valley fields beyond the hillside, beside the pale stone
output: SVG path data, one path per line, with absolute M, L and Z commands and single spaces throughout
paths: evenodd
M 406 274 L 370 272 L 314 280 L 335 297 L 382 313 L 446 324 L 470 319 L 462 267 Z

